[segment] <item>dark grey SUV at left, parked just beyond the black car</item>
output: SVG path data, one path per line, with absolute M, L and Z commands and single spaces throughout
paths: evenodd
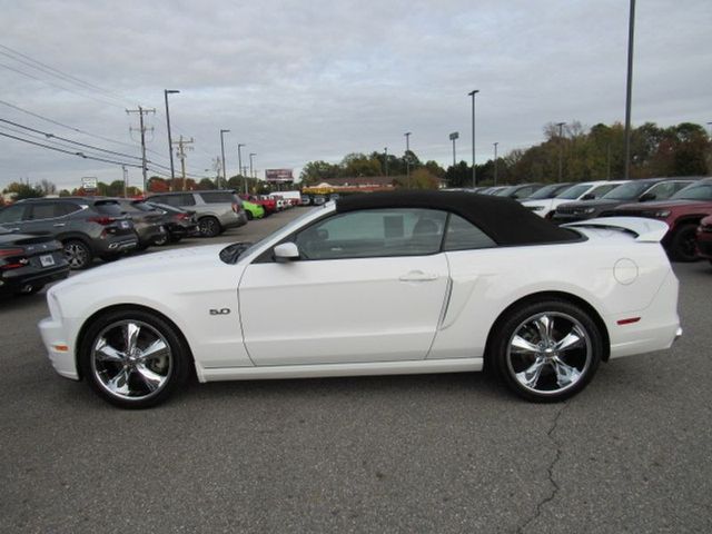
M 119 202 L 101 197 L 33 198 L 0 209 L 0 225 L 22 234 L 49 234 L 61 241 L 72 269 L 95 257 L 111 260 L 138 246 L 134 221 Z

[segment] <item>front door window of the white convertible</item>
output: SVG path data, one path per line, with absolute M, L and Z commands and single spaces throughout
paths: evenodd
M 303 259 L 425 256 L 441 250 L 447 214 L 368 209 L 338 214 L 295 236 Z

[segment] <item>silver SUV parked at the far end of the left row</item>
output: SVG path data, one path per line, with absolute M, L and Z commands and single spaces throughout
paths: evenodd
M 161 192 L 151 195 L 148 200 L 195 211 L 198 229 L 206 237 L 247 224 L 243 200 L 234 190 Z

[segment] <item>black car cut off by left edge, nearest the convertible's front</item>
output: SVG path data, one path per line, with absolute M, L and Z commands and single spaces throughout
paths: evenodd
M 68 275 L 62 244 L 52 236 L 16 234 L 0 226 L 0 295 L 31 295 Z

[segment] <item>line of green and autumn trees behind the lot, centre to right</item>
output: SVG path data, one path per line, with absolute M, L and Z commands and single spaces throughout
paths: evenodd
M 573 121 L 561 135 L 556 125 L 547 123 L 543 142 L 512 150 L 496 162 L 490 159 L 477 165 L 477 184 L 494 185 L 495 165 L 498 184 L 620 179 L 624 176 L 624 142 L 625 129 L 619 122 L 585 129 Z M 700 125 L 661 128 L 645 122 L 631 131 L 631 178 L 706 176 L 710 169 L 712 142 Z M 393 176 L 398 186 L 408 170 L 416 178 L 411 187 L 437 187 L 441 180 L 447 187 L 472 186 L 472 165 L 466 161 L 443 168 L 436 161 L 422 162 L 413 151 L 403 156 L 354 152 L 338 164 L 309 161 L 300 179 L 305 185 L 317 185 L 329 178 Z

